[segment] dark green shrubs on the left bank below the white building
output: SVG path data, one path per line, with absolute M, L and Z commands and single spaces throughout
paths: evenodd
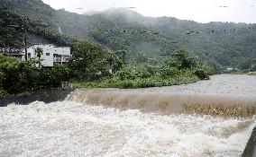
M 69 78 L 67 65 L 38 69 L 32 61 L 19 62 L 14 57 L 0 55 L 0 95 L 59 87 Z

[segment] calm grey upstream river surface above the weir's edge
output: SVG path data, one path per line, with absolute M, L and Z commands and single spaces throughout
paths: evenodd
M 210 80 L 199 81 L 197 83 L 139 89 L 135 91 L 256 96 L 256 76 L 244 74 L 219 74 L 211 76 Z

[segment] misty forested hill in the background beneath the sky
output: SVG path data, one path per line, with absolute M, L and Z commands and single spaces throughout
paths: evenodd
M 0 4 L 52 31 L 60 27 L 74 39 L 96 41 L 112 51 L 125 50 L 129 60 L 139 51 L 162 59 L 187 48 L 216 64 L 239 67 L 256 62 L 256 24 L 152 18 L 125 8 L 80 15 L 54 10 L 41 0 L 2 0 Z

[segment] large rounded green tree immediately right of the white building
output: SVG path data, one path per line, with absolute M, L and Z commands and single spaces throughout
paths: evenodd
M 79 79 L 95 80 L 110 74 L 108 58 L 100 45 L 84 40 L 74 44 L 69 65 Z

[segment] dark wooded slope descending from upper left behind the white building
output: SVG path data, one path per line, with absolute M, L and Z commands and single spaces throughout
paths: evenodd
M 25 36 L 28 46 L 47 43 L 71 46 L 76 41 L 69 36 L 61 35 L 58 31 L 46 28 L 45 24 L 12 12 L 4 5 L 0 5 L 0 35 L 0 48 L 23 48 Z

